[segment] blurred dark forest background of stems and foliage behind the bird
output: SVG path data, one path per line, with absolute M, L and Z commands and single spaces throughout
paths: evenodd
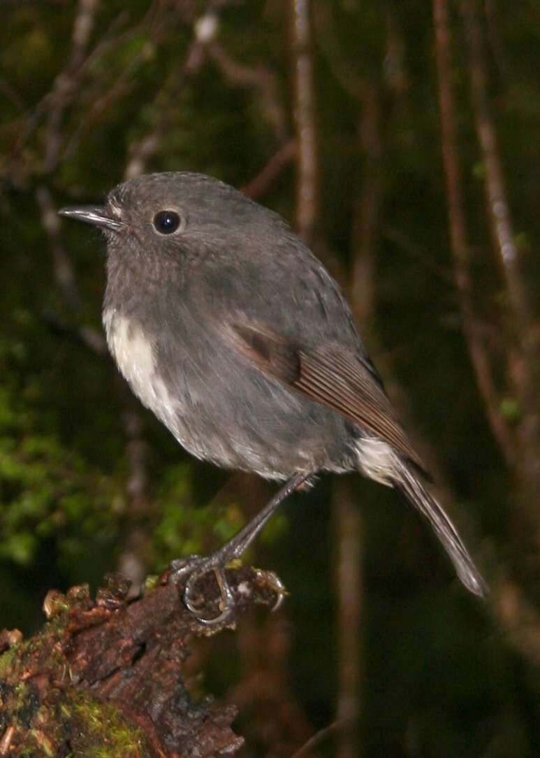
M 0 627 L 51 587 L 217 546 L 272 488 L 189 458 L 105 349 L 98 233 L 61 205 L 220 177 L 339 279 L 491 586 L 397 493 L 326 478 L 248 556 L 291 593 L 201 644 L 247 756 L 540 746 L 540 16 L 529 0 L 0 2 Z M 204 677 L 198 672 L 204 671 Z

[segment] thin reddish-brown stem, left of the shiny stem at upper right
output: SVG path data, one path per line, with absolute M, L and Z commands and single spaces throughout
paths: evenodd
M 442 160 L 445 168 L 448 202 L 448 230 L 451 252 L 454 258 L 454 280 L 457 287 L 462 326 L 470 361 L 476 376 L 476 383 L 484 402 L 485 413 L 501 453 L 508 465 L 511 466 L 515 459 L 515 440 L 513 440 L 513 434 L 501 414 L 501 398 L 495 387 L 491 361 L 481 337 L 481 330 L 473 305 L 463 181 L 457 148 L 454 94 L 451 87 L 451 42 L 448 31 L 447 0 L 433 0 L 433 19 L 439 84 Z

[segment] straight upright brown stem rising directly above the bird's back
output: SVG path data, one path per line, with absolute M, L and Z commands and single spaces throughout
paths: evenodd
M 318 203 L 317 134 L 311 36 L 310 0 L 292 0 L 292 55 L 295 83 L 293 117 L 298 142 L 296 228 L 298 234 L 307 243 L 313 241 Z

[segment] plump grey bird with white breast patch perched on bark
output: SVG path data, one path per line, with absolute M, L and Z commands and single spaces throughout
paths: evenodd
M 202 622 L 232 617 L 225 565 L 287 496 L 325 472 L 358 471 L 399 490 L 467 590 L 485 595 L 345 296 L 283 218 L 188 171 L 143 174 L 104 205 L 59 213 L 105 235 L 108 348 L 142 404 L 195 458 L 282 484 L 228 543 L 175 563 L 195 615 L 195 584 L 216 572 L 220 612 Z

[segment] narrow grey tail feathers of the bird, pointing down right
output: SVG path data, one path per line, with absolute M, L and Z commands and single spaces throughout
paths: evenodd
M 415 472 L 395 456 L 395 472 L 392 472 L 392 484 L 401 490 L 420 513 L 422 513 L 432 526 L 433 531 L 441 540 L 451 562 L 456 568 L 460 580 L 467 590 L 483 597 L 487 592 L 487 586 L 482 579 L 473 559 L 467 552 L 467 548 L 461 541 L 457 530 L 446 515 L 439 503 L 429 494 Z

